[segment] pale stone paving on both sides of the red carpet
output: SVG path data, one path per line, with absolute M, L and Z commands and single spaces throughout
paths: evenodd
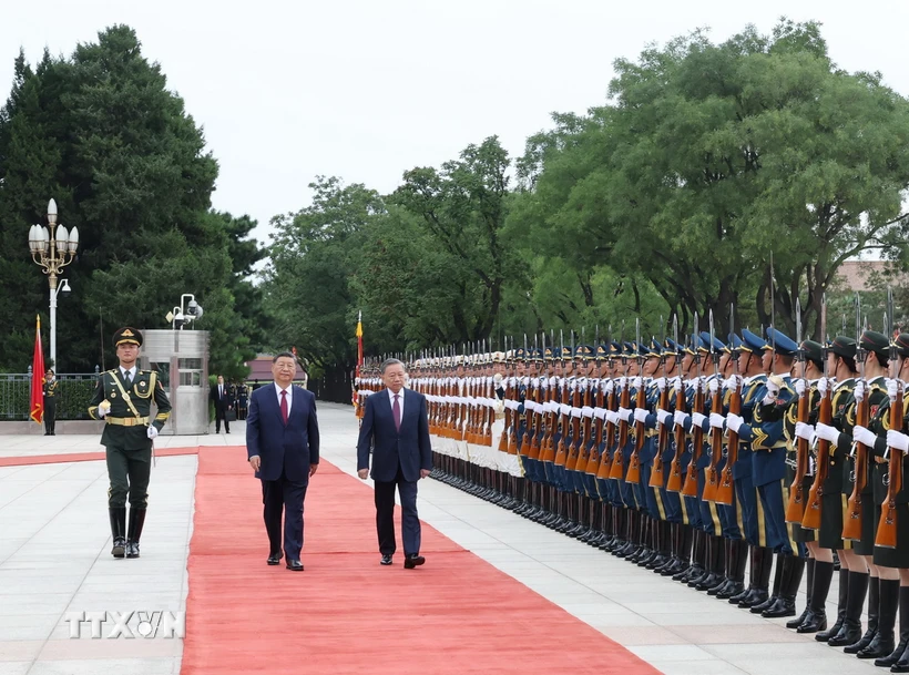
M 357 425 L 350 408 L 323 403 L 319 417 L 323 457 L 353 474 Z M 161 437 L 157 446 L 242 444 L 243 423 L 232 431 Z M 0 437 L 0 458 L 101 449 L 96 437 Z M 185 608 L 195 472 L 195 456 L 157 460 L 142 558 L 126 561 L 109 553 L 103 462 L 0 467 L 0 675 L 180 672 L 180 638 L 93 640 L 90 623 L 71 638 L 68 616 Z M 785 620 L 709 599 L 442 483 L 421 483 L 419 508 L 458 544 L 668 675 L 884 672 L 787 631 Z M 154 621 L 134 615 L 126 631 Z M 102 628 L 110 634 L 116 622 Z M 566 642 L 560 636 L 553 648 Z

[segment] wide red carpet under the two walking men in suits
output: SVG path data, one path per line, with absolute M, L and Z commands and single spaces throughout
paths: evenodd
M 400 548 L 380 566 L 371 489 L 325 461 L 306 497 L 306 571 L 267 566 L 245 458 L 200 451 L 184 675 L 658 672 L 426 524 L 423 567 L 404 570 Z

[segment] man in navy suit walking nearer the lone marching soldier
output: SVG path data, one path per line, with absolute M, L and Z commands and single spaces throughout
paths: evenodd
M 284 512 L 286 566 L 303 572 L 303 500 L 309 477 L 319 467 L 319 425 L 316 397 L 292 385 L 297 361 L 289 351 L 272 360 L 273 386 L 253 391 L 246 417 L 246 453 L 262 479 L 268 564 L 280 563 L 280 519 Z

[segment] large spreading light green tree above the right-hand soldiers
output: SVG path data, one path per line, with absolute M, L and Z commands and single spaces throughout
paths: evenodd
M 684 325 L 713 310 L 725 331 L 731 303 L 736 326 L 766 325 L 773 253 L 791 330 L 797 297 L 816 326 L 842 260 L 902 246 L 909 106 L 836 69 L 816 23 L 719 45 L 695 32 L 615 70 L 612 104 L 555 116 L 519 163 L 513 228 L 575 260 L 582 287 L 599 260 L 646 278 Z

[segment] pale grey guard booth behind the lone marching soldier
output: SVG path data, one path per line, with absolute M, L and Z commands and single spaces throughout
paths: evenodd
M 171 399 L 167 436 L 208 433 L 208 331 L 143 330 L 140 365 L 155 370 Z

